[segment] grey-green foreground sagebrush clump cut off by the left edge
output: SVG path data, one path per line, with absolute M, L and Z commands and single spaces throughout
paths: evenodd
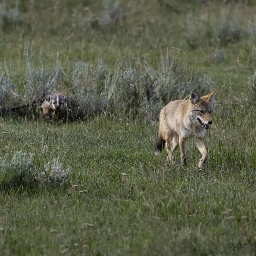
M 29 188 L 36 185 L 37 167 L 34 154 L 16 151 L 0 157 L 0 186 L 5 189 Z

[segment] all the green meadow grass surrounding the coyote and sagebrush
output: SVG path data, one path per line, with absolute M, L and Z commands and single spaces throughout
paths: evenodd
M 100 59 L 112 74 L 116 61 L 124 69 L 132 63 L 145 72 L 143 61 L 160 69 L 161 52 L 168 48 L 185 74 L 189 66 L 199 77 L 210 75 L 218 89 L 214 124 L 205 137 L 207 170 L 197 168 L 200 153 L 193 141 L 187 145 L 186 169 L 169 166 L 165 152 L 155 156 L 158 123 L 140 112 L 135 116 L 120 108 L 60 125 L 1 118 L 0 157 L 33 153 L 40 171 L 59 158 L 64 169 L 69 167 L 73 185 L 1 191 L 1 254 L 255 255 L 256 113 L 247 88 L 255 69 L 255 37 L 244 33 L 246 20 L 254 26 L 254 9 L 236 5 L 241 7 L 241 36 L 223 43 L 216 21 L 221 8 L 230 11 L 229 3 L 180 6 L 143 0 L 121 5 L 129 11 L 127 20 L 88 29 L 83 18 L 88 8 L 99 15 L 98 1 L 23 1 L 19 9 L 31 30 L 0 31 L 1 72 L 7 65 L 11 79 L 22 87 L 24 45 L 33 41 L 35 68 L 41 67 L 42 48 L 49 72 L 61 63 L 62 79 L 69 79 L 60 83 L 68 91 L 77 60 L 96 65 Z M 198 38 L 193 49 L 188 12 L 201 26 L 193 30 Z M 206 25 L 205 14 L 210 17 Z M 224 60 L 217 65 L 212 57 L 218 49 Z

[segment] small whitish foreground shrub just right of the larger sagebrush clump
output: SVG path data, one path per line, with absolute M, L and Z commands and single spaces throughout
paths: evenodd
M 59 158 L 54 158 L 53 162 L 48 162 L 44 166 L 44 172 L 40 173 L 41 179 L 52 187 L 62 187 L 68 182 L 69 167 L 63 169 L 63 163 L 59 162 Z

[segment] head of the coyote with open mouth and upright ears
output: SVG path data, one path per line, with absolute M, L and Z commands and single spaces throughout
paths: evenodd
M 200 97 L 196 89 L 191 91 L 190 95 L 190 110 L 189 117 L 191 118 L 193 124 L 203 127 L 208 130 L 209 126 L 212 124 L 211 114 L 214 112 L 212 103 L 214 102 L 215 93 L 217 90 Z

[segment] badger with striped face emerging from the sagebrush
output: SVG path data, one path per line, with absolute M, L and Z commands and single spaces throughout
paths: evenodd
M 68 114 L 68 98 L 62 93 L 49 94 L 42 103 L 41 109 L 47 121 L 53 121 L 52 113 L 56 114 L 58 119 L 65 121 Z

